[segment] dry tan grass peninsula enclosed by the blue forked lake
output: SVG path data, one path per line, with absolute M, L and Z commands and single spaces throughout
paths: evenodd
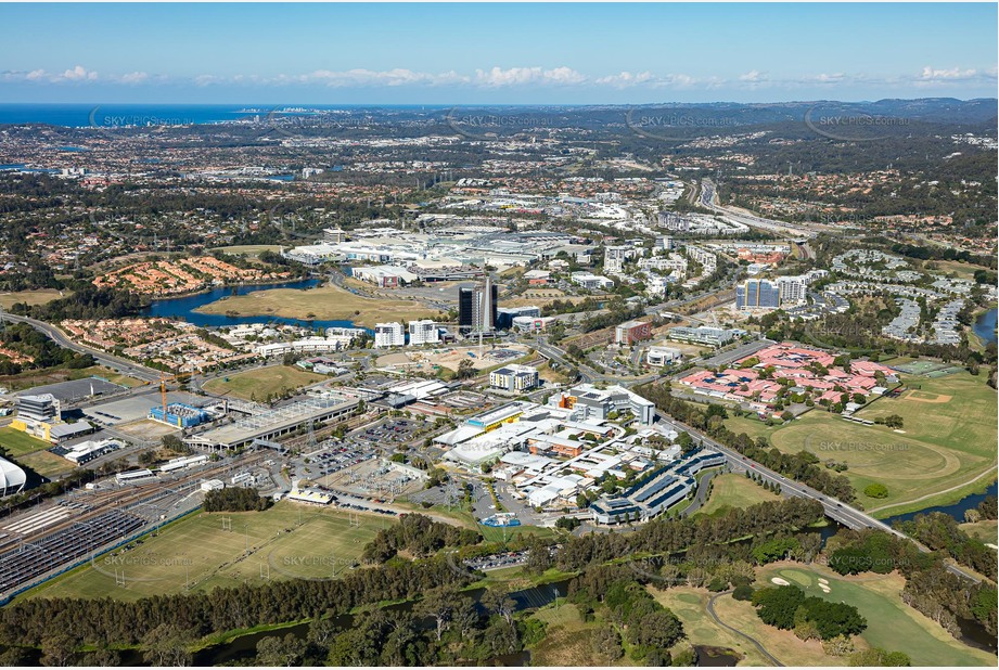
M 374 327 L 383 321 L 409 321 L 434 318 L 437 311 L 415 300 L 369 298 L 338 286 L 322 286 L 303 291 L 273 288 L 254 291 L 242 296 L 226 297 L 195 310 L 205 314 L 274 315 L 289 319 L 353 321 Z

